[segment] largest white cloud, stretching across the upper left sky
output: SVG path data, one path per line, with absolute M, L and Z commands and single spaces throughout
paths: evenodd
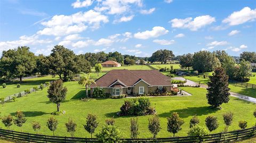
M 87 12 L 77 12 L 71 15 L 55 15 L 49 21 L 43 21 L 43 30 L 38 31 L 39 35 L 63 36 L 71 33 L 79 33 L 90 27 L 97 29 L 101 23 L 109 22 L 108 16 L 100 12 L 89 10 Z

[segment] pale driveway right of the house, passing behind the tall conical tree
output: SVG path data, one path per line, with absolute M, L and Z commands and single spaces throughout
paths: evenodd
M 175 80 L 186 80 L 185 78 L 182 78 L 182 77 L 174 77 L 172 79 L 175 79 Z M 173 84 L 173 85 L 175 87 L 177 87 L 177 84 Z M 187 82 L 184 83 L 184 85 L 197 86 L 198 83 L 187 79 Z M 207 88 L 207 85 L 202 85 L 201 84 L 201 88 Z M 239 99 L 242 99 L 242 100 L 246 100 L 248 102 L 252 102 L 252 103 L 256 104 L 256 98 L 253 98 L 253 97 L 250 97 L 250 96 L 246 96 L 246 95 L 242 95 L 242 94 L 237 94 L 235 92 L 230 92 L 230 91 L 229 91 L 229 93 L 230 93 L 230 96 L 233 96 L 233 97 L 236 97 L 236 98 L 239 98 Z

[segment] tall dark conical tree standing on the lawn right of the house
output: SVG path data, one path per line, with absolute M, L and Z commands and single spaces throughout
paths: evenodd
M 222 103 L 228 103 L 230 95 L 228 91 L 230 88 L 228 88 L 228 76 L 225 70 L 223 68 L 216 68 L 210 80 L 206 94 L 208 104 L 216 108 Z

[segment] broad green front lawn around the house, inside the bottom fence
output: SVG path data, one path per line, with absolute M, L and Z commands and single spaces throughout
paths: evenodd
M 66 114 L 55 116 L 59 120 L 59 126 L 56 131 L 57 136 L 69 136 L 66 132 L 65 123 L 69 117 L 72 117 L 77 123 L 76 137 L 90 137 L 83 124 L 85 124 L 87 114 L 96 114 L 99 121 L 99 127 L 95 132 L 99 132 L 99 129 L 105 124 L 105 120 L 110 117 L 115 117 L 116 125 L 125 134 L 125 137 L 129 137 L 129 125 L 131 116 L 117 117 L 116 112 L 120 110 L 125 99 L 93 99 L 89 102 L 83 102 L 79 98 L 85 96 L 85 90 L 82 86 L 78 85 L 77 81 L 65 82 L 65 86 L 68 88 L 68 94 L 66 101 L 61 103 L 60 110 L 66 111 Z M 223 104 L 222 110 L 213 110 L 207 104 L 205 98 L 206 89 L 184 87 L 184 90 L 193 94 L 192 96 L 184 97 L 154 97 L 150 98 L 151 104 L 155 106 L 157 115 L 161 120 L 162 130 L 158 133 L 158 137 L 170 137 L 172 134 L 166 131 L 166 117 L 170 116 L 172 112 L 178 112 L 180 117 L 185 121 L 182 125 L 182 130 L 177 136 L 186 136 L 189 130 L 189 120 L 195 114 L 200 119 L 200 124 L 204 125 L 204 120 L 208 115 L 214 115 L 218 117 L 220 126 L 213 133 L 223 131 L 224 124 L 222 121 L 222 114 L 231 111 L 234 112 L 234 122 L 229 127 L 229 130 L 239 129 L 238 121 L 246 120 L 248 127 L 252 127 L 255 124 L 255 119 L 252 112 L 255 110 L 255 104 L 246 102 L 241 99 L 230 97 L 228 104 Z M 27 117 L 27 122 L 23 126 L 23 131 L 34 133 L 31 129 L 31 122 L 38 121 L 41 123 L 41 134 L 49 134 L 46 127 L 46 121 L 51 117 L 51 113 L 56 110 L 56 105 L 49 102 L 46 97 L 46 89 L 43 91 L 37 91 L 36 93 L 29 94 L 27 97 L 18 98 L 17 102 L 6 103 L 4 106 L 0 106 L 1 116 L 3 115 L 15 115 L 15 112 L 21 110 Z M 237 110 L 239 109 L 239 110 Z M 140 138 L 149 138 L 151 133 L 148 131 L 148 118 L 152 115 L 139 116 L 139 131 Z M 2 123 L 0 127 L 6 129 Z M 20 131 L 16 125 L 12 125 L 12 130 Z

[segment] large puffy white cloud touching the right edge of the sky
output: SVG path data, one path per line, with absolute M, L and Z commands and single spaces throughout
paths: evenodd
M 254 21 L 256 19 L 256 9 L 251 10 L 250 7 L 244 7 L 241 11 L 231 13 L 223 23 L 228 23 L 229 26 L 236 26 L 247 21 Z

